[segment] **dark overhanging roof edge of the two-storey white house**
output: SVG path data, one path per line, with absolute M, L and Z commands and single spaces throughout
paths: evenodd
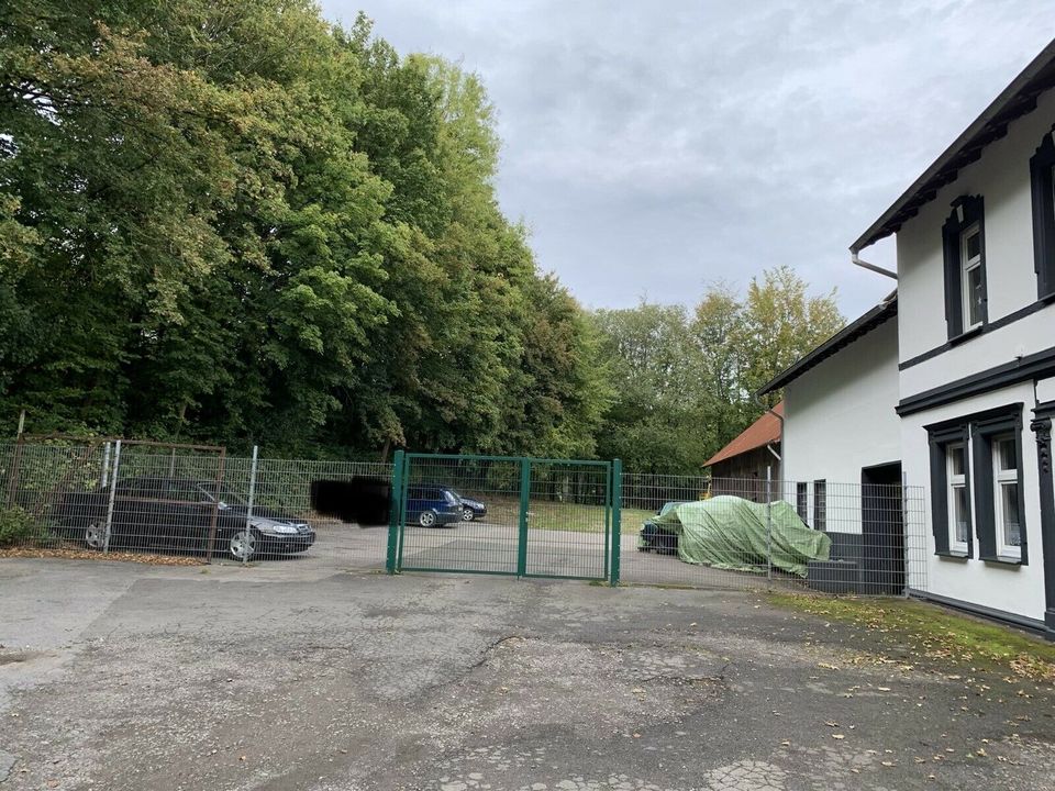
M 1033 58 L 1022 73 L 968 126 L 945 152 L 934 160 L 871 227 L 854 242 L 849 249 L 859 253 L 885 236 L 897 233 L 920 207 L 934 200 L 937 190 L 956 180 L 960 169 L 977 160 L 982 149 L 1007 134 L 1008 124 L 1036 109 L 1036 98 L 1055 87 L 1055 40 Z

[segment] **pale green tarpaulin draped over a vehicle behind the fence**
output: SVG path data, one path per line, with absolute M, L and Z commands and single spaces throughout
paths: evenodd
M 773 567 L 806 577 L 807 562 L 828 560 L 832 539 L 809 527 L 789 502 L 771 504 Z M 737 497 L 681 503 L 656 517 L 662 530 L 678 534 L 686 562 L 736 571 L 765 572 L 766 505 Z

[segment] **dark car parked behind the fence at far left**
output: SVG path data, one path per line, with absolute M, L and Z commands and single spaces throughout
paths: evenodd
M 215 514 L 213 552 L 235 560 L 304 552 L 315 543 L 306 522 L 248 505 L 215 481 L 185 478 L 131 478 L 114 489 L 107 537 L 110 489 L 66 494 L 53 509 L 59 532 L 92 549 L 209 550 Z M 248 525 L 246 524 L 248 522 Z

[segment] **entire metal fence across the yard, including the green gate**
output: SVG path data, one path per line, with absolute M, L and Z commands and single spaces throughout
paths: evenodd
M 402 498 L 389 491 L 396 469 Z M 0 550 L 320 571 L 382 569 L 395 552 L 401 570 L 926 590 L 924 493 L 901 484 L 828 481 L 821 490 L 495 457 L 417 455 L 393 468 L 230 456 L 209 446 L 25 438 L 0 445 Z M 391 524 L 343 508 L 370 499 L 381 512 L 397 504 Z

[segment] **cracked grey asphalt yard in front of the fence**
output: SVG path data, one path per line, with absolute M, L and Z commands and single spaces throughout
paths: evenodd
M 736 591 L 0 561 L 0 789 L 1052 789 L 1052 690 Z

